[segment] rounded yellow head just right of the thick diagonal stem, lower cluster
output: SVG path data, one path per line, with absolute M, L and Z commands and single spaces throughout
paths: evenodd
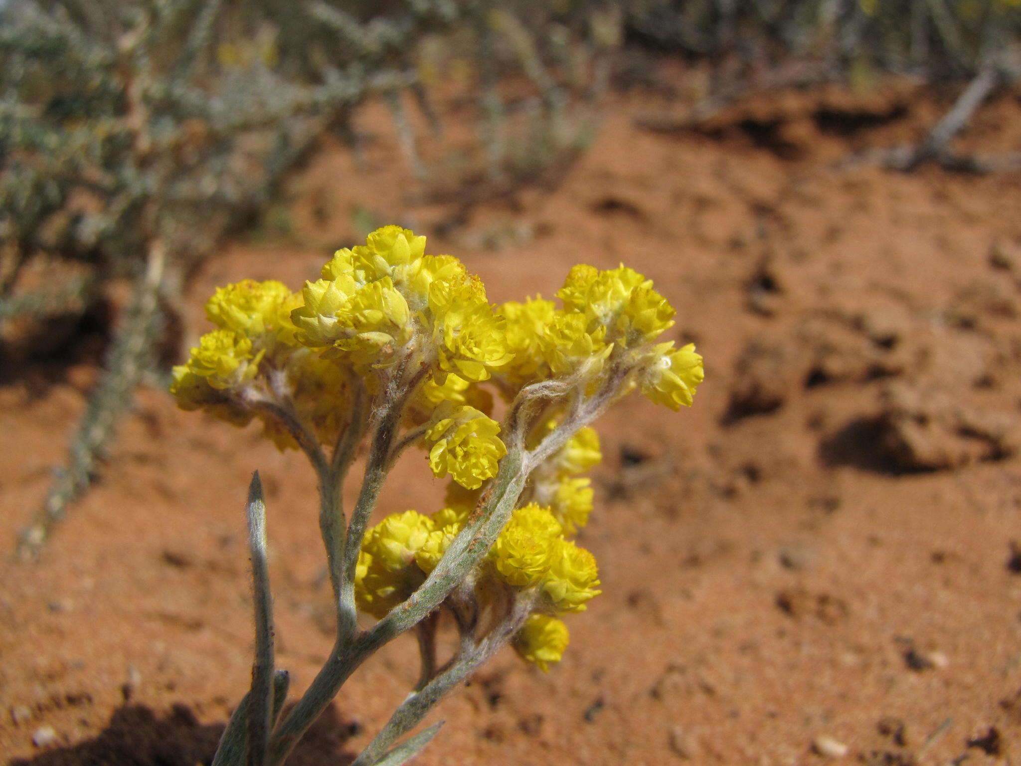
M 490 552 L 500 579 L 516 587 L 541 582 L 562 531 L 548 509 L 533 502 L 515 511 Z

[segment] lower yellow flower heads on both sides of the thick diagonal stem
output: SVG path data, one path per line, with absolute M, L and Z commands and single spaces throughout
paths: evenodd
M 436 568 L 469 513 L 465 507 L 432 516 L 406 511 L 372 527 L 358 558 L 359 609 L 381 618 L 407 599 Z M 584 611 L 598 587 L 595 557 L 566 539 L 550 510 L 534 502 L 514 512 L 475 581 L 480 604 L 500 603 L 492 597 L 499 588 L 534 594 L 534 614 L 515 645 L 543 670 L 567 645 L 567 627 L 552 616 Z

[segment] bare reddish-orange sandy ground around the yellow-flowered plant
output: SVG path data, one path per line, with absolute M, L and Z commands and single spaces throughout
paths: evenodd
M 578 261 L 625 261 L 677 306 L 671 333 L 696 341 L 707 380 L 691 411 L 636 396 L 598 424 L 606 460 L 581 543 L 603 594 L 570 619 L 549 674 L 504 651 L 453 693 L 418 763 L 1021 762 L 1021 176 L 837 163 L 917 138 L 944 107 L 910 90 L 784 94 L 665 135 L 633 122 L 655 105 L 621 99 L 555 191 L 475 206 L 433 239 L 493 300 L 548 295 Z M 1004 96 L 962 148 L 1019 144 L 1021 103 Z M 354 240 L 355 202 L 435 230 L 450 209 L 405 205 L 395 155 L 386 134 L 367 170 L 327 146 L 293 190 L 304 239 L 209 259 L 185 342 L 215 285 L 314 276 Z M 3 547 L 94 373 L 88 354 L 5 371 Z M 256 468 L 279 663 L 292 697 L 310 680 L 331 644 L 310 470 L 254 427 L 144 390 L 43 560 L 2 564 L 4 763 L 208 763 L 249 678 Z M 408 456 L 380 513 L 440 496 Z M 345 763 L 416 663 L 410 638 L 382 651 L 293 763 Z M 34 746 L 45 726 L 54 741 Z

